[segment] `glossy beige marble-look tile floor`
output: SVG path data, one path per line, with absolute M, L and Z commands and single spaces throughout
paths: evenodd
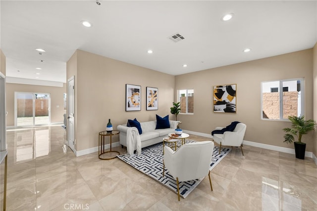
M 317 210 L 312 158 L 250 146 L 242 156 L 233 148 L 211 171 L 212 192 L 206 177 L 178 202 L 176 194 L 117 158 L 64 152 L 65 136 L 60 125 L 7 131 L 8 211 Z

